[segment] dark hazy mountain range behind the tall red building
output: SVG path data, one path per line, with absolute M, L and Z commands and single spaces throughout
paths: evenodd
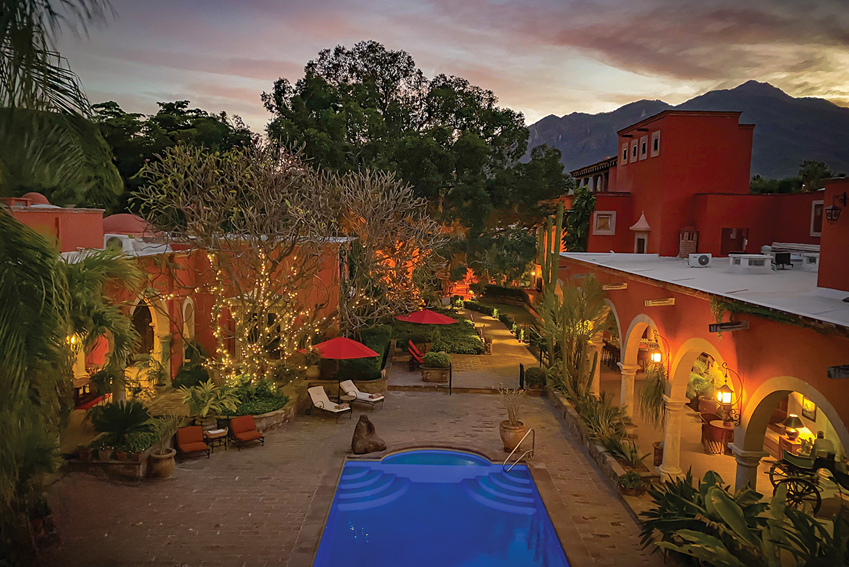
M 825 162 L 835 173 L 849 173 L 849 108 L 825 99 L 796 98 L 767 82 L 714 90 L 677 105 L 638 100 L 612 112 L 549 115 L 531 124 L 528 151 L 548 144 L 560 150 L 565 170 L 616 156 L 616 131 L 669 109 L 742 111 L 740 123 L 755 124 L 751 174 L 767 179 L 793 177 L 803 160 Z

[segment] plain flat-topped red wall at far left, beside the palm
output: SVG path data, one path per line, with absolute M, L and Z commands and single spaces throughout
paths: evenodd
M 59 252 L 104 247 L 103 209 L 8 207 L 7 210 L 59 247 Z

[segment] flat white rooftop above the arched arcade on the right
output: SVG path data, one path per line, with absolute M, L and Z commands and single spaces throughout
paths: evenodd
M 713 258 L 707 268 L 690 268 L 687 258 L 657 254 L 568 252 L 561 256 L 849 327 L 849 303 L 843 301 L 849 292 L 817 287 L 816 272 L 779 269 L 767 274 L 732 274 L 728 258 Z

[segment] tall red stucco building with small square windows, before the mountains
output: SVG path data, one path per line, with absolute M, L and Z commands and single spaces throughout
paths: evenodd
M 619 131 L 619 155 L 571 172 L 596 193 L 590 252 L 686 256 L 817 245 L 823 195 L 749 193 L 753 124 L 663 111 Z

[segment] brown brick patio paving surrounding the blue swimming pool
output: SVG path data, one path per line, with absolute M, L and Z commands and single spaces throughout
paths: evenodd
M 492 395 L 389 392 L 387 398 L 383 410 L 369 415 L 390 450 L 447 444 L 503 458 L 502 411 Z M 310 564 L 360 412 L 339 425 L 299 416 L 267 434 L 264 447 L 178 462 L 170 479 L 70 473 L 52 495 L 62 544 L 42 565 Z M 554 488 L 545 502 L 573 567 L 660 565 L 659 555 L 638 551 L 637 525 L 582 448 L 565 436 L 548 400 L 526 400 L 523 419 L 537 429 L 534 475 L 550 475 Z

